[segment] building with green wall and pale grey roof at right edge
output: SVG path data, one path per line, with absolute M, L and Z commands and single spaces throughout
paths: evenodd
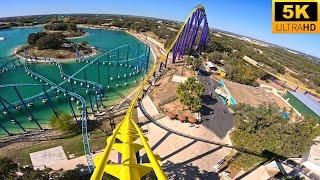
M 288 91 L 283 98 L 303 116 L 315 117 L 320 122 L 320 103 L 295 91 Z

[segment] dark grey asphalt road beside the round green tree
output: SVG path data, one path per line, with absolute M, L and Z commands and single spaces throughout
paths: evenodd
M 233 127 L 232 114 L 229 113 L 227 106 L 222 102 L 219 95 L 214 92 L 218 82 L 210 77 L 204 65 L 201 65 L 198 70 L 198 81 L 203 83 L 205 87 L 202 97 L 203 105 L 200 111 L 202 124 L 222 139 Z

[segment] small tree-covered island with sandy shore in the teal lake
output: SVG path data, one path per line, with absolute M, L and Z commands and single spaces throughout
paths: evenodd
M 47 24 L 44 31 L 28 35 L 28 44 L 16 49 L 15 55 L 27 59 L 56 58 L 70 60 L 79 56 L 93 55 L 95 48 L 88 42 L 74 43 L 68 38 L 80 37 L 86 34 L 76 25 L 66 23 Z

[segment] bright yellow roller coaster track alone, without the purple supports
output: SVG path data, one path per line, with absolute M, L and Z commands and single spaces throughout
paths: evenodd
M 119 179 L 136 180 L 141 179 L 144 175 L 152 170 L 158 179 L 166 179 L 164 171 L 160 166 L 160 157 L 153 154 L 147 142 L 147 138 L 143 135 L 140 127 L 132 120 L 132 117 L 139 99 L 143 96 L 144 88 L 148 85 L 153 74 L 160 68 L 161 63 L 166 60 L 166 57 L 172 51 L 175 43 L 177 43 L 178 38 L 189 18 L 197 10 L 205 12 L 202 5 L 198 5 L 195 9 L 193 9 L 193 11 L 182 24 L 174 42 L 168 49 L 166 49 L 166 54 L 160 57 L 160 59 L 153 66 L 152 70 L 148 72 L 142 83 L 139 85 L 124 119 L 113 130 L 113 134 L 107 138 L 107 145 L 104 151 L 94 159 L 95 169 L 91 176 L 91 180 L 100 180 L 105 173 Z M 116 139 L 118 139 L 119 142 L 116 142 Z M 138 139 L 140 140 L 141 144 L 136 142 Z M 136 153 L 142 148 L 144 148 L 150 163 L 137 163 Z M 121 153 L 121 164 L 107 164 L 112 149 Z

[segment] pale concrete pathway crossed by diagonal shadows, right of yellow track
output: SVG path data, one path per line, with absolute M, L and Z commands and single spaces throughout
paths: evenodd
M 144 104 L 145 102 L 147 103 Z M 168 179 L 183 173 L 192 179 L 216 177 L 213 166 L 231 150 L 222 145 L 230 144 L 228 136 L 221 140 L 206 126 L 181 123 L 170 120 L 167 116 L 155 120 L 151 117 L 153 111 L 149 110 L 148 105 L 149 101 L 141 101 L 139 106 L 150 120 L 142 129 L 147 132 L 153 152 L 161 157 Z M 144 152 L 141 151 L 140 154 Z

